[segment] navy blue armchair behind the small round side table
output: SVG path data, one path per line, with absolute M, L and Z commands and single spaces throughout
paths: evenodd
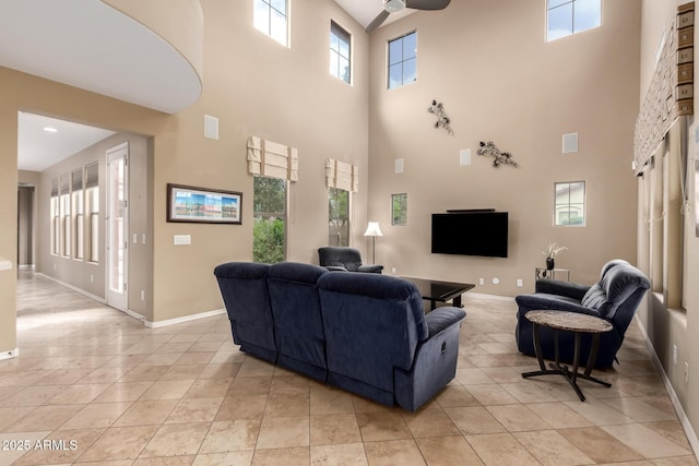
M 602 267 L 600 280 L 584 286 L 554 279 L 538 279 L 535 292 L 516 298 L 516 339 L 520 351 L 534 355 L 533 324 L 524 318 L 532 310 L 558 310 L 595 315 L 612 323 L 613 330 L 600 336 L 595 368 L 609 368 L 624 343 L 624 334 L 633 319 L 650 282 L 641 271 L 623 260 L 609 261 Z M 554 359 L 555 333 L 540 330 L 542 353 L 545 359 Z M 560 360 L 573 359 L 573 333 L 558 332 Z M 585 361 L 592 344 L 591 335 L 582 335 L 580 360 Z

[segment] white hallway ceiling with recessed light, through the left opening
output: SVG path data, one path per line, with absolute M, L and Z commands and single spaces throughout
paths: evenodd
M 48 132 L 44 128 L 54 128 L 57 131 Z M 43 171 L 112 134 L 114 131 L 21 111 L 17 168 Z

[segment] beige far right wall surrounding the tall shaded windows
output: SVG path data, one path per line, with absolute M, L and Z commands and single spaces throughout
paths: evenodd
M 655 52 L 664 31 L 670 28 L 674 21 L 678 5 L 686 3 L 680 0 L 643 0 L 642 2 L 642 31 L 641 31 L 641 93 L 639 101 L 643 99 L 655 70 Z M 695 50 L 697 49 L 695 39 Z M 695 76 L 697 76 L 697 61 L 695 61 Z M 695 80 L 695 95 L 699 86 Z M 639 320 L 651 339 L 655 354 L 663 366 L 665 373 L 672 384 L 673 391 L 677 395 L 688 422 L 694 427 L 695 449 L 697 447 L 696 432 L 699 429 L 699 391 L 697 390 L 697 377 L 699 375 L 699 288 L 696 284 L 699 280 L 699 238 L 695 234 L 697 222 L 695 205 L 697 199 L 695 192 L 694 164 L 699 159 L 699 146 L 696 144 L 695 134 L 699 127 L 695 118 L 688 119 L 688 134 L 686 144 L 689 150 L 689 177 L 687 179 L 687 192 L 689 195 L 688 214 L 684 216 L 684 253 L 682 255 L 683 270 L 683 292 L 682 306 L 671 307 L 662 291 L 662 271 L 667 270 L 667 264 L 660 264 L 659 267 L 651 267 L 649 249 L 651 248 L 648 235 L 648 213 L 644 211 L 644 201 L 649 192 L 649 176 L 639 182 L 638 188 L 638 234 L 639 246 L 638 256 L 641 267 L 653 278 L 653 288 L 659 290 L 648 296 L 639 309 Z M 679 145 L 677 139 L 680 136 L 677 124 L 671 131 L 670 145 Z M 672 150 L 671 150 L 672 152 Z M 656 154 L 659 160 L 663 154 Z M 675 182 L 678 182 L 675 180 Z M 672 251 L 670 251 L 672 253 Z M 670 255 L 670 254 L 667 254 Z M 654 272 L 656 277 L 653 277 Z M 657 272 L 660 271 L 660 272 Z M 677 286 L 677 282 L 670 284 Z M 673 360 L 674 346 L 677 346 L 677 363 Z M 689 383 L 685 382 L 685 361 L 689 366 Z

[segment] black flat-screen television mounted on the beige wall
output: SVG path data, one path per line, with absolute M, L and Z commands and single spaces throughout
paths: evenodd
M 507 258 L 508 213 L 433 214 L 433 253 Z

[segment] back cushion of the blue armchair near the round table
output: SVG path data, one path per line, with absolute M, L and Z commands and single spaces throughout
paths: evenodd
M 582 298 L 581 304 L 595 309 L 606 319 L 614 319 L 619 306 L 631 297 L 638 289 L 650 287 L 648 278 L 636 267 L 617 264 L 611 267 L 602 279 L 590 287 Z

